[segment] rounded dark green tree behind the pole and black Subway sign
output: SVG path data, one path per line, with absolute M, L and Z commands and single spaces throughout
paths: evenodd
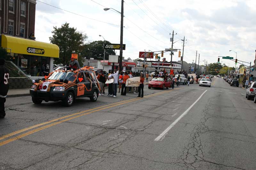
M 104 57 L 104 42 L 105 41 L 93 41 L 89 44 L 84 44 L 81 48 L 81 54 L 87 59 L 94 58 L 94 59 L 101 59 L 103 60 Z M 111 44 L 111 42 L 106 41 L 106 44 Z M 114 50 L 106 49 L 105 50 L 105 60 L 108 60 L 109 55 L 115 55 Z

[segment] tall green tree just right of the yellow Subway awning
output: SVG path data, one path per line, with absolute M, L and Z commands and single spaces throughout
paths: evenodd
M 71 54 L 79 54 L 81 46 L 87 39 L 87 35 L 78 32 L 76 28 L 70 27 L 68 23 L 53 27 L 52 37 L 49 37 L 52 44 L 56 44 L 60 48 L 60 58 L 55 59 L 56 64 L 67 64 L 71 58 Z M 78 55 L 78 62 L 83 65 L 84 58 Z

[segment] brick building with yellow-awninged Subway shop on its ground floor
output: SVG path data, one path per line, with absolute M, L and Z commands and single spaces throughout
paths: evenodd
M 28 76 L 47 75 L 53 58 L 59 58 L 55 44 L 35 41 L 36 0 L 0 0 L 1 47 L 6 58 Z

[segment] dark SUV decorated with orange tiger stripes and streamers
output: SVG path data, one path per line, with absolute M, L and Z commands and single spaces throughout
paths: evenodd
M 35 104 L 41 104 L 43 100 L 62 100 L 64 105 L 72 106 L 76 98 L 89 97 L 96 101 L 100 93 L 95 72 L 86 67 L 76 71 L 56 70 L 48 77 L 33 82 L 30 95 Z

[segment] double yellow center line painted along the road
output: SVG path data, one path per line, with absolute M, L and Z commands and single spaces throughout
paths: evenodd
M 178 89 L 178 88 L 176 88 L 176 89 Z M 176 90 L 176 89 L 172 89 L 172 90 Z M 169 90 L 168 92 L 171 92 L 172 90 Z M 155 93 L 155 94 L 150 94 L 150 95 L 145 96 L 144 98 L 149 98 L 149 97 L 156 96 L 156 95 L 163 94 L 163 93 L 166 93 L 166 92 L 164 91 L 164 92 L 159 92 L 159 93 Z M 39 123 L 39 124 L 36 124 L 34 126 L 30 126 L 28 128 L 20 129 L 20 130 L 17 130 L 15 132 L 12 132 L 12 133 L 9 133 L 7 135 L 4 135 L 4 136 L 0 137 L 0 140 L 8 138 L 7 140 L 4 140 L 3 142 L 0 142 L 0 146 L 2 146 L 4 144 L 8 144 L 12 141 L 15 141 L 15 140 L 20 139 L 20 138 L 25 137 L 25 136 L 28 136 L 28 135 L 33 134 L 35 132 L 38 132 L 40 130 L 52 127 L 52 126 L 57 125 L 57 124 L 60 124 L 62 122 L 67 122 L 67 121 L 75 119 L 77 117 L 81 117 L 81 116 L 84 116 L 84 115 L 89 115 L 91 113 L 98 112 L 98 111 L 108 109 L 108 108 L 111 108 L 111 107 L 116 107 L 116 106 L 119 106 L 119 105 L 122 105 L 122 104 L 125 104 L 125 103 L 130 103 L 130 102 L 133 102 L 133 101 L 142 100 L 144 98 L 135 98 L 135 99 L 130 99 L 130 100 L 124 100 L 124 101 L 120 101 L 120 102 L 117 102 L 117 103 L 112 103 L 112 104 L 109 104 L 109 105 L 95 107 L 95 108 L 88 109 L 88 110 L 85 110 L 85 111 L 82 111 L 82 112 L 78 112 L 78 113 L 63 116 L 63 117 L 60 117 L 60 118 L 57 118 L 57 119 L 53 119 L 51 121 Z M 68 119 L 65 119 L 65 118 L 68 118 Z M 62 120 L 62 119 L 64 119 L 64 120 Z M 49 123 L 51 123 L 51 124 L 49 124 Z M 45 124 L 49 124 L 49 125 L 43 126 Z M 39 127 L 39 126 L 42 126 L 42 127 Z M 37 128 L 37 127 L 39 127 L 39 128 Z M 34 128 L 37 128 L 37 129 L 34 129 Z M 30 130 L 30 129 L 33 129 L 33 130 Z M 17 135 L 21 132 L 25 132 L 27 130 L 30 130 L 30 131 L 28 131 L 26 133 L 23 133 L 21 135 L 18 135 L 16 137 L 13 137 L 14 135 Z

